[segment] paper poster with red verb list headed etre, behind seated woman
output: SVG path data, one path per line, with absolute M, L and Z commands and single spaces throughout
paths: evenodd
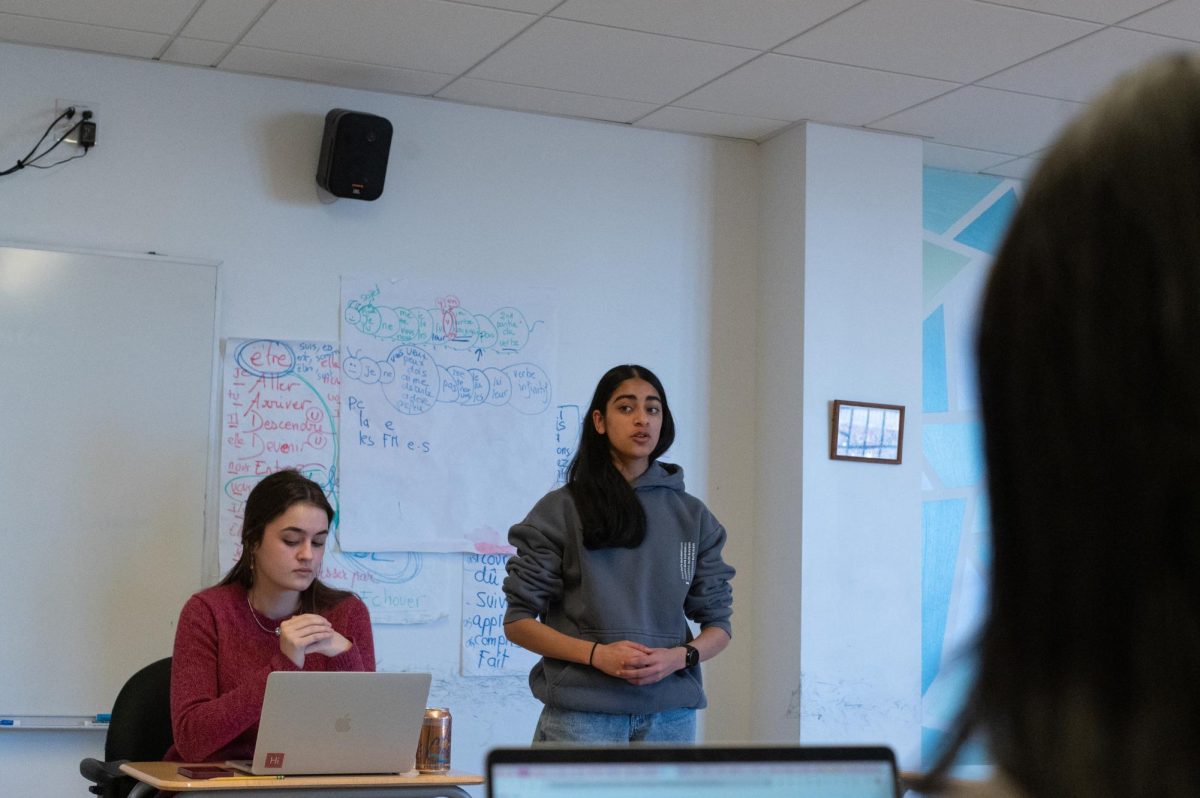
M 226 341 L 217 558 L 222 574 L 241 554 L 246 497 L 258 480 L 295 468 L 316 481 L 341 515 L 337 491 L 337 346 L 264 338 Z M 442 586 L 457 563 L 419 553 L 325 552 L 320 578 L 353 590 L 376 623 L 424 623 L 448 614 Z

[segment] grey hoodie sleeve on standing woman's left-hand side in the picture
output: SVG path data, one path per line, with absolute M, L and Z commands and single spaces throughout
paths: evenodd
M 509 558 L 504 595 L 509 606 L 504 623 L 538 618 L 551 601 L 563 595 L 563 512 L 548 512 L 553 494 L 539 502 L 524 521 L 509 529 L 509 544 L 517 553 Z

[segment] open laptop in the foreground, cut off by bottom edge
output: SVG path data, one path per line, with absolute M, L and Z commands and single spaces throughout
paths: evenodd
M 488 798 L 898 798 L 882 746 L 496 749 Z

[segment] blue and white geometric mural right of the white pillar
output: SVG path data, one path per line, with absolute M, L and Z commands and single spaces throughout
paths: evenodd
M 988 511 L 972 344 L 991 260 L 1016 209 L 1014 180 L 924 170 L 922 326 L 922 766 L 971 680 L 986 598 Z M 979 746 L 961 764 L 982 764 Z

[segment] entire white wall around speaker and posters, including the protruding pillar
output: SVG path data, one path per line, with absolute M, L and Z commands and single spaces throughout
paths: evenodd
M 919 730 L 918 142 L 809 125 L 756 148 L 14 44 L 0 44 L 0 168 L 55 98 L 94 103 L 100 121 L 86 158 L 0 178 L 0 239 L 221 260 L 221 337 L 336 338 L 341 274 L 554 289 L 559 398 L 586 402 L 617 361 L 659 371 L 673 458 L 730 529 L 734 638 L 706 665 L 706 738 L 906 754 Z M 376 203 L 318 202 L 334 107 L 395 125 Z M 828 461 L 833 398 L 906 404 L 905 464 Z M 5 576 L 0 602 L 20 587 Z M 460 708 L 456 767 L 528 739 L 523 679 L 456 677 L 457 618 L 379 628 L 378 642 Z M 6 732 L 0 786 L 79 793 L 76 764 L 101 746 Z

